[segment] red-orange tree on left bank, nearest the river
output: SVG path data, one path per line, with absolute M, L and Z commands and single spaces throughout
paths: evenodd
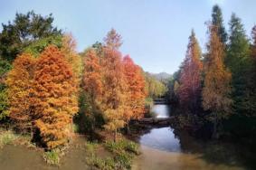
M 124 115 L 128 125 L 131 118 L 141 118 L 144 115 L 146 99 L 145 78 L 139 66 L 129 56 L 125 56 L 122 62 L 128 85 L 128 100 L 126 104 L 129 109 Z

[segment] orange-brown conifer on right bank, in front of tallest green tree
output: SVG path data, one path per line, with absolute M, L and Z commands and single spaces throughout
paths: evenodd
M 227 118 L 232 105 L 232 75 L 224 67 L 223 43 L 217 35 L 216 27 L 211 25 L 209 30 L 208 52 L 204 59 L 203 108 L 212 112 L 213 137 L 218 137 L 219 122 Z

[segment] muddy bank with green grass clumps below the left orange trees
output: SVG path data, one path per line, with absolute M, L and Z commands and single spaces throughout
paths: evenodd
M 138 146 L 125 137 L 119 140 L 90 142 L 88 137 L 73 134 L 72 143 L 62 152 L 44 152 L 27 136 L 11 130 L 0 133 L 0 169 L 130 169 Z M 25 141 L 25 142 L 24 142 Z M 14 164 L 15 163 L 15 164 Z M 47 164 L 48 163 L 48 164 Z

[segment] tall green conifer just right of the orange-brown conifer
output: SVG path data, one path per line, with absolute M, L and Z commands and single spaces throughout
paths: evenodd
M 248 74 L 251 70 L 250 42 L 246 36 L 241 19 L 232 14 L 226 65 L 232 71 L 232 98 L 234 108 L 242 113 L 247 108 L 250 92 Z

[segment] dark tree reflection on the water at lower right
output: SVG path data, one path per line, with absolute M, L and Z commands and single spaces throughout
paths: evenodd
M 198 154 L 198 158 L 214 165 L 242 165 L 256 169 L 256 156 L 251 146 L 241 146 L 233 142 L 222 142 L 195 138 L 187 132 L 174 129 L 175 137 L 179 138 L 181 151 Z M 255 149 L 254 149 L 255 151 Z

